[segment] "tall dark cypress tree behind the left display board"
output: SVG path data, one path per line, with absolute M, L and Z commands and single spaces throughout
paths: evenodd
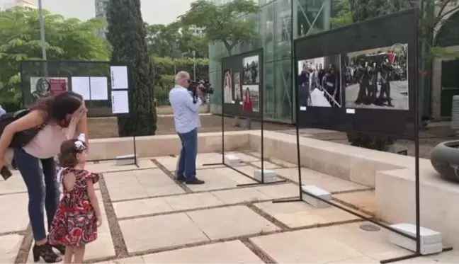
M 154 134 L 157 115 L 153 98 L 153 67 L 149 57 L 140 0 L 111 0 L 107 9 L 107 39 L 112 45 L 111 62 L 131 67 L 130 116 L 118 117 L 121 137 Z

